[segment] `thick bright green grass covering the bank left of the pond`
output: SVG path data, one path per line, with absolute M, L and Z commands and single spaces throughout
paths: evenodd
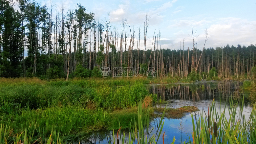
M 18 80 L 12 81 L 15 83 Z M 117 79 L 112 83 L 109 83 L 111 79 L 92 82 L 28 81 L 16 85 L 12 82 L 9 85 L 2 84 L 0 119 L 3 125 L 11 126 L 16 135 L 23 133 L 28 127 L 36 130 L 33 132 L 33 140 L 39 136 L 46 138 L 53 131 L 77 134 L 99 129 L 116 129 L 118 120 L 128 128 L 136 113 L 115 114 L 115 111 L 136 109 L 139 100 L 149 95 L 140 79 L 128 82 Z M 99 86 L 101 84 L 103 86 Z

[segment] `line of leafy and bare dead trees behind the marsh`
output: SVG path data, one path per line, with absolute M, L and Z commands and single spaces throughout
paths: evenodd
M 153 69 L 160 78 L 183 78 L 190 73 L 207 78 L 211 72 L 219 78 L 255 76 L 256 45 L 206 49 L 205 30 L 204 46 L 199 50 L 192 28 L 190 48 L 184 47 L 183 39 L 177 50 L 162 49 L 160 31 L 149 41 L 147 14 L 142 29 L 124 19 L 118 31 L 109 15 L 100 23 L 94 13 L 76 5 L 75 10 L 65 11 L 53 4 L 49 8 L 33 0 L 18 0 L 19 8 L 14 9 L 12 1 L 1 0 L 0 77 L 101 77 L 104 66 L 110 68 L 110 77 L 115 75 L 114 67 L 133 68 L 133 73 L 146 75 Z

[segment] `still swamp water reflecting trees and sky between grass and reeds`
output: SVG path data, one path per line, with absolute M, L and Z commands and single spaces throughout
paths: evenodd
M 239 92 L 239 87 L 242 87 L 242 82 L 197 82 L 190 84 L 148 84 L 145 87 L 149 90 L 150 93 L 156 94 L 156 99 L 158 101 L 168 101 L 167 104 L 157 104 L 154 107 L 164 108 L 180 108 L 183 106 L 196 106 L 200 111 L 193 112 L 194 120 L 197 120 L 200 117 L 200 114 L 208 114 L 208 106 L 212 104 L 213 99 L 215 99 L 216 111 L 218 114 L 224 111 L 226 105 L 225 116 L 228 119 L 228 109 L 230 109 L 229 99 L 234 96 L 234 93 L 241 93 L 245 95 L 243 114 L 245 118 L 248 119 L 252 111 L 252 107 L 248 102 L 248 93 Z M 235 103 L 235 101 L 233 101 Z M 220 109 L 221 107 L 221 109 Z M 238 108 L 240 109 L 240 108 Z M 204 114 L 205 113 L 205 114 Z M 240 110 L 237 110 L 237 114 L 241 113 Z M 156 133 L 155 128 L 158 127 L 161 118 L 154 118 L 150 122 L 150 127 L 154 128 L 152 133 Z M 193 132 L 192 127 L 192 118 L 190 113 L 185 113 L 185 115 L 180 119 L 171 119 L 164 118 L 164 125 L 162 133 L 158 143 L 162 142 L 162 135 L 165 132 L 164 142 L 171 143 L 173 137 L 175 136 L 175 144 L 183 143 L 184 140 L 188 141 L 189 137 L 192 140 L 191 133 Z M 128 137 L 129 129 L 121 129 L 119 133 L 122 137 L 122 134 L 125 132 L 125 137 Z M 117 130 L 112 131 L 96 131 L 85 135 L 80 139 L 82 144 L 109 144 L 113 143 L 113 134 L 117 137 Z M 116 138 L 117 139 L 117 138 Z M 116 141 L 116 140 L 115 140 Z M 123 140 L 119 137 L 119 142 Z M 124 140 L 126 143 L 126 140 Z

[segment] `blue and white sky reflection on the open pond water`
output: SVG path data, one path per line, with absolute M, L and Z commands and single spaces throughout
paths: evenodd
M 182 106 L 191 106 L 191 104 L 193 104 L 193 106 L 197 106 L 199 108 L 199 112 L 193 112 L 193 115 L 196 114 L 197 119 L 201 117 L 201 113 L 203 112 L 203 118 L 206 117 L 205 113 L 208 115 L 208 106 L 209 104 L 212 103 L 212 100 L 209 101 L 203 101 L 203 102 L 182 102 L 183 100 L 175 100 L 174 103 L 170 103 L 167 104 L 167 108 L 171 108 L 172 106 L 174 108 L 180 108 Z M 161 107 L 165 107 L 166 104 L 163 104 Z M 218 114 L 220 114 L 220 110 L 221 113 L 224 112 L 224 107 L 225 107 L 225 102 L 221 102 L 221 109 L 219 109 L 219 103 L 216 102 L 215 103 L 216 106 L 216 111 Z M 227 119 L 230 118 L 229 116 L 229 112 L 228 109 L 230 108 L 229 103 L 226 105 L 226 109 L 225 109 L 225 117 Z M 245 119 L 248 120 L 250 113 L 252 111 L 252 107 L 250 106 L 244 106 L 243 109 L 243 114 L 245 115 Z M 205 112 L 205 113 L 204 113 Z M 240 108 L 237 108 L 237 115 L 236 115 L 236 121 L 238 120 L 238 114 L 241 113 L 240 112 Z M 157 118 L 157 120 L 160 118 Z M 180 127 L 180 122 L 182 123 L 184 129 L 182 131 L 182 143 L 184 142 L 184 140 L 186 139 L 186 141 L 189 140 L 189 137 L 192 140 L 192 132 L 193 132 L 193 127 L 192 127 L 192 119 L 191 119 L 191 114 L 190 113 L 186 113 L 185 116 L 183 116 L 181 119 L 168 119 L 168 118 L 164 118 L 164 127 L 163 127 L 163 132 L 165 132 L 165 135 L 168 136 L 168 143 L 171 143 L 173 140 L 173 136 L 175 136 L 176 141 L 175 143 L 180 144 L 181 143 L 181 132 L 179 131 L 179 127 Z M 194 117 L 195 120 L 195 117 Z M 152 123 L 155 123 L 155 121 L 153 121 Z M 162 134 L 163 134 L 162 132 Z M 161 135 L 162 135 L 161 134 Z M 162 136 L 161 136 L 162 138 Z M 162 140 L 161 140 L 162 142 Z M 167 142 L 167 139 L 166 141 Z

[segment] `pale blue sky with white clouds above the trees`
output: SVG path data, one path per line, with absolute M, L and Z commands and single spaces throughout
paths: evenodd
M 51 0 L 36 0 L 50 8 Z M 76 3 L 87 12 L 95 13 L 95 20 L 104 23 L 110 15 L 112 31 L 123 19 L 134 27 L 138 39 L 138 28 L 143 36 L 146 13 L 149 16 L 147 49 L 151 49 L 154 31 L 161 33 L 161 48 L 180 49 L 182 41 L 187 49 L 193 45 L 192 27 L 196 47 L 203 49 L 205 30 L 208 40 L 205 48 L 224 47 L 226 44 L 248 46 L 256 44 L 255 0 L 52 0 L 65 11 L 75 9 Z M 58 8 L 57 8 L 58 9 Z M 143 37 L 142 37 L 143 39 Z M 136 46 L 137 47 L 137 46 Z

